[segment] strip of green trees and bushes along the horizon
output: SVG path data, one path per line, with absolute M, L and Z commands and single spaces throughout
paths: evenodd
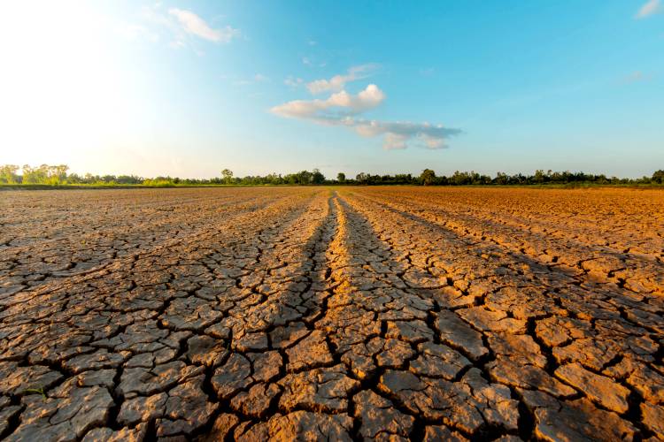
M 235 177 L 233 171 L 224 169 L 219 177 L 211 179 L 182 179 L 178 177 L 159 176 L 142 178 L 135 175 L 92 175 L 86 173 L 68 173 L 66 164 L 42 164 L 37 167 L 28 164 L 21 168 L 13 164 L 0 165 L 0 184 L 9 185 L 45 185 L 45 186 L 267 186 L 267 185 L 416 185 L 416 186 L 510 186 L 510 185 L 643 185 L 664 184 L 664 170 L 655 171 L 651 177 L 638 179 L 606 177 L 605 174 L 584 173 L 583 171 L 543 171 L 537 170 L 532 175 L 516 173 L 509 175 L 498 171 L 495 177 L 483 175 L 475 171 L 455 171 L 450 176 L 436 175 L 431 169 L 425 169 L 420 175 L 398 173 L 395 175 L 372 175 L 367 172 L 358 173 L 354 179 L 347 178 L 339 172 L 336 179 L 327 179 L 318 169 L 299 171 L 286 175 L 270 173 L 265 176 Z

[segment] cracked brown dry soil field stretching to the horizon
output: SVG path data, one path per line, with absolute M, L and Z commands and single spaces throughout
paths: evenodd
M 0 438 L 664 438 L 664 192 L 0 192 Z

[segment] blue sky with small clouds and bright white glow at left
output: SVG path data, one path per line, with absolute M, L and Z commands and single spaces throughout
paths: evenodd
M 8 0 L 0 164 L 664 169 L 664 0 Z

